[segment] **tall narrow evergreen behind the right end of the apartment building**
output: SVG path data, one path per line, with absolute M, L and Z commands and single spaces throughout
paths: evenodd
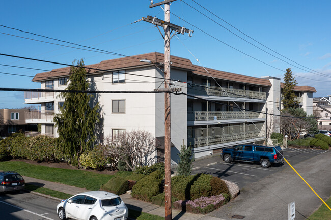
M 292 71 L 291 68 L 286 69 L 286 73 L 284 74 L 284 83 L 285 86 L 283 88 L 283 106 L 284 109 L 287 110 L 290 107 L 292 108 L 298 108 L 299 107 L 299 102 L 295 100 L 296 96 L 293 91 L 294 86 L 297 85 L 296 80 L 292 76 Z

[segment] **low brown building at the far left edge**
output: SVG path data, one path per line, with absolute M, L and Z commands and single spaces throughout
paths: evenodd
M 26 109 L 0 109 L 0 137 L 28 130 L 24 117 L 25 111 Z

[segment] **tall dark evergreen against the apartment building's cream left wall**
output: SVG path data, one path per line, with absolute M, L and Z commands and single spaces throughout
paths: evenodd
M 90 84 L 86 79 L 84 61 L 82 59 L 77 61 L 75 66 L 78 67 L 70 68 L 69 84 L 65 90 L 88 91 Z M 94 96 L 89 93 L 62 92 L 59 96 L 64 99 L 64 104 L 61 113 L 56 114 L 53 119 L 59 133 L 57 143 L 60 149 L 70 156 L 70 163 L 81 167 L 80 155 L 93 148 L 96 138 L 94 128 L 99 122 L 99 103 L 90 107 Z

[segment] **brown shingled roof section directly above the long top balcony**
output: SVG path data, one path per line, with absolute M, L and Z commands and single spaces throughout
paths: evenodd
M 214 70 L 210 68 L 206 68 L 206 70 L 210 73 L 210 75 L 206 72 L 203 67 L 195 65 L 196 70 L 193 71 L 194 74 L 202 75 L 202 76 L 212 76 L 218 79 L 242 82 L 254 85 L 263 85 L 263 86 L 271 86 L 271 83 L 268 79 L 256 78 L 252 76 L 245 76 L 236 73 L 229 73 L 219 70 Z

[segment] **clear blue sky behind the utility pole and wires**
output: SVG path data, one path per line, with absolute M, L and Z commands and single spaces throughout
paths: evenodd
M 291 68 L 298 85 L 315 87 L 317 93 L 314 97 L 331 94 L 331 1 L 195 1 L 282 56 L 246 37 L 192 0 L 177 0 L 170 6 L 174 14 L 171 15 L 171 23 L 194 30 L 191 38 L 187 34 L 179 35 L 179 39 L 173 37 L 172 55 L 188 58 L 200 65 L 195 59 L 197 57 L 205 67 L 254 77 L 283 79 L 285 70 Z M 133 23 L 147 15 L 164 19 L 160 7 L 149 8 L 149 5 L 149 0 L 4 1 L 0 25 L 124 55 L 163 52 L 164 41 L 157 28 L 144 21 Z M 243 41 L 220 25 L 276 57 Z M 86 65 L 119 58 L 40 41 L 72 46 L 0 26 L 0 51 L 3 54 L 66 64 L 84 58 Z M 45 70 L 63 67 L 6 56 L 0 56 L 0 64 Z M 34 76 L 43 71 L 0 66 L 0 72 Z M 0 87 L 40 88 L 40 83 L 31 82 L 32 77 L 3 73 L 0 73 Z M 26 106 L 23 103 L 24 92 L 0 91 L 0 108 L 21 108 Z

